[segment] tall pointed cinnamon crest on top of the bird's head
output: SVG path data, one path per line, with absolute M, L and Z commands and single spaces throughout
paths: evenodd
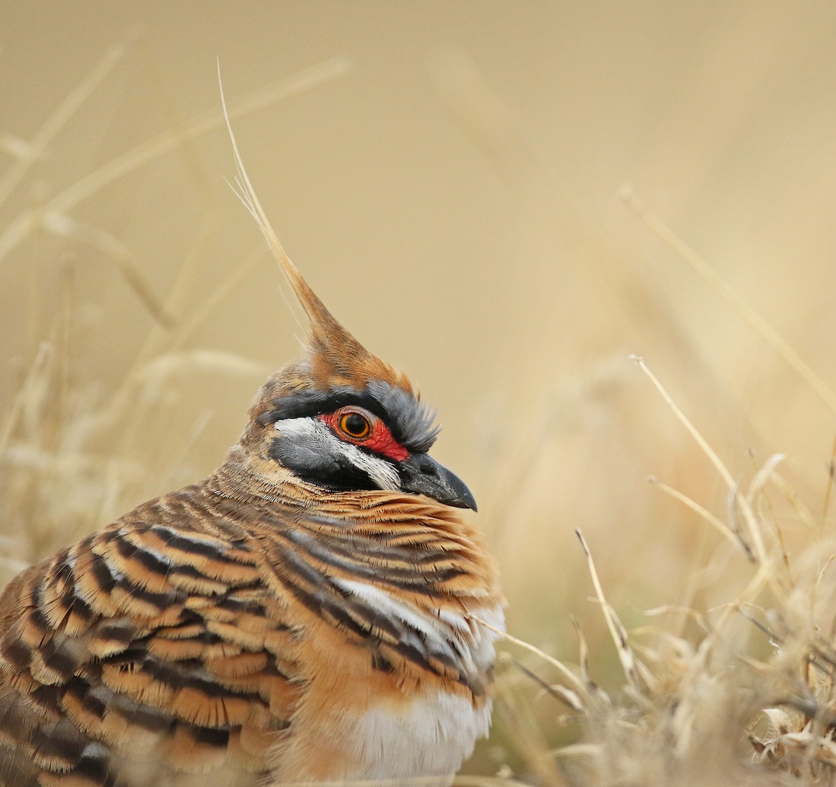
M 220 64 L 218 64 L 218 81 L 220 83 Z M 349 382 L 353 385 L 364 385 L 372 378 L 389 381 L 406 391 L 412 391 L 410 382 L 400 372 L 395 371 L 390 365 L 372 355 L 358 340 L 354 339 L 348 330 L 345 330 L 334 315 L 329 312 L 325 304 L 314 293 L 308 282 L 303 279 L 296 266 L 291 262 L 285 252 L 282 243 L 270 225 L 267 214 L 264 212 L 261 203 L 258 202 L 255 190 L 252 187 L 247 171 L 235 141 L 235 134 L 232 132 L 232 125 L 227 114 L 227 104 L 223 97 L 221 86 L 221 102 L 224 117 L 227 120 L 227 130 L 232 141 L 232 151 L 235 156 L 237 176 L 235 183 L 237 188 L 233 191 L 256 220 L 264 238 L 268 242 L 273 256 L 278 262 L 279 268 L 290 284 L 293 292 L 302 304 L 305 314 L 310 322 L 310 337 L 308 350 L 310 351 L 311 369 L 310 375 L 315 386 L 333 386 Z

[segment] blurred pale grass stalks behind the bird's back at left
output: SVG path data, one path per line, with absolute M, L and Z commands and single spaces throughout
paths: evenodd
M 48 151 L 56 135 L 65 128 L 84 101 L 115 68 L 128 49 L 128 43 L 111 48 L 98 64 L 69 92 L 59 108 L 48 117 L 31 140 L 7 141 L 6 149 L 16 160 L 0 177 L 0 205 L 9 202 L 25 185 L 29 168 Z M 293 95 L 313 89 L 344 74 L 350 65 L 331 59 L 298 74 L 252 92 L 232 102 L 229 115 L 247 115 Z M 18 361 L 27 369 L 18 394 L 4 407 L 0 419 L 0 512 L 3 536 L 0 539 L 0 584 L 4 585 L 25 565 L 49 554 L 60 544 L 89 533 L 110 516 L 129 507 L 131 490 L 145 487 L 151 478 L 162 478 L 166 470 L 187 452 L 195 428 L 183 438 L 181 446 L 168 453 L 162 464 L 136 452 L 136 440 L 145 427 L 145 418 L 155 411 L 175 376 L 199 374 L 247 375 L 260 379 L 267 374 L 262 365 L 217 350 L 184 350 L 214 309 L 232 292 L 261 258 L 245 261 L 219 283 L 199 304 L 192 304 L 182 319 L 172 316 L 170 304 L 178 302 L 193 271 L 188 260 L 166 299 L 156 298 L 153 285 L 135 264 L 133 255 L 103 227 L 84 224 L 70 212 L 79 202 L 92 197 L 120 177 L 128 175 L 179 146 L 188 146 L 199 135 L 222 128 L 223 112 L 215 110 L 186 120 L 176 128 L 99 166 L 79 181 L 64 188 L 35 208 L 26 207 L 28 196 L 19 200 L 20 209 L 0 232 L 0 265 L 8 264 L 13 249 L 38 233 L 53 234 L 70 244 L 90 246 L 104 253 L 122 275 L 127 292 L 145 306 L 153 318 L 145 341 L 125 374 L 119 389 L 103 398 L 93 381 L 74 373 L 74 326 L 81 323 L 75 314 L 72 274 L 64 269 L 62 309 L 47 327 L 35 326 L 45 336 L 38 340 L 31 359 Z M 37 298 L 39 289 L 30 295 Z M 37 309 L 32 309 L 36 313 Z M 180 309 L 177 311 L 178 318 Z M 27 368 L 28 367 L 28 368 Z M 205 426 L 205 424 L 203 424 Z M 145 459 L 145 461 L 143 461 Z M 152 483 L 153 485 L 153 483 Z M 127 499 L 126 499 L 127 498 Z

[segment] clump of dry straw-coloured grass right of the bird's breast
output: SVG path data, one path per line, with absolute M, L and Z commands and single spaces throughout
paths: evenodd
M 589 652 L 583 631 L 578 631 L 574 667 L 514 641 L 539 659 L 515 663 L 540 684 L 540 703 L 550 698 L 561 706 L 545 722 L 542 713 L 534 718 L 521 704 L 519 678 L 506 674 L 501 705 L 515 719 L 512 737 L 525 752 L 523 767 L 538 783 L 590 787 L 834 784 L 832 523 L 804 506 L 779 473 L 780 455 L 757 469 L 744 492 L 644 362 L 637 362 L 726 483 L 727 522 L 681 493 L 667 491 L 726 539 L 705 571 L 722 575 L 731 570 L 742 587 L 721 599 L 704 594 L 711 606 L 674 606 L 677 600 L 671 599 L 670 606 L 645 611 L 647 623 L 628 632 L 606 600 L 593 555 L 578 532 L 592 600 L 609 630 L 620 678 L 606 690 L 596 682 L 604 654 Z M 828 483 L 825 514 L 830 492 Z M 558 672 L 557 682 L 538 677 L 544 663 Z M 546 749 L 543 741 L 554 739 L 559 730 L 573 740 Z

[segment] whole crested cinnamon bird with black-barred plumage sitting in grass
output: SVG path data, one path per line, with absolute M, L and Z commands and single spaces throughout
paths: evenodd
M 0 787 L 437 777 L 490 722 L 497 577 L 431 414 L 243 199 L 310 320 L 201 483 L 0 597 Z

